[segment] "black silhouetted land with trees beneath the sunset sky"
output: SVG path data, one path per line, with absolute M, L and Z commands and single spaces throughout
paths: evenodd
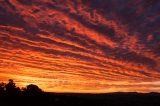
M 43 92 L 36 85 L 0 84 L 0 106 L 160 106 L 159 93 L 75 94 Z

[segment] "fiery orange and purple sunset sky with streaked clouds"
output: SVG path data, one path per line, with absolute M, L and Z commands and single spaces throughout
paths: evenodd
M 159 0 L 0 0 L 0 82 L 49 92 L 160 92 Z

